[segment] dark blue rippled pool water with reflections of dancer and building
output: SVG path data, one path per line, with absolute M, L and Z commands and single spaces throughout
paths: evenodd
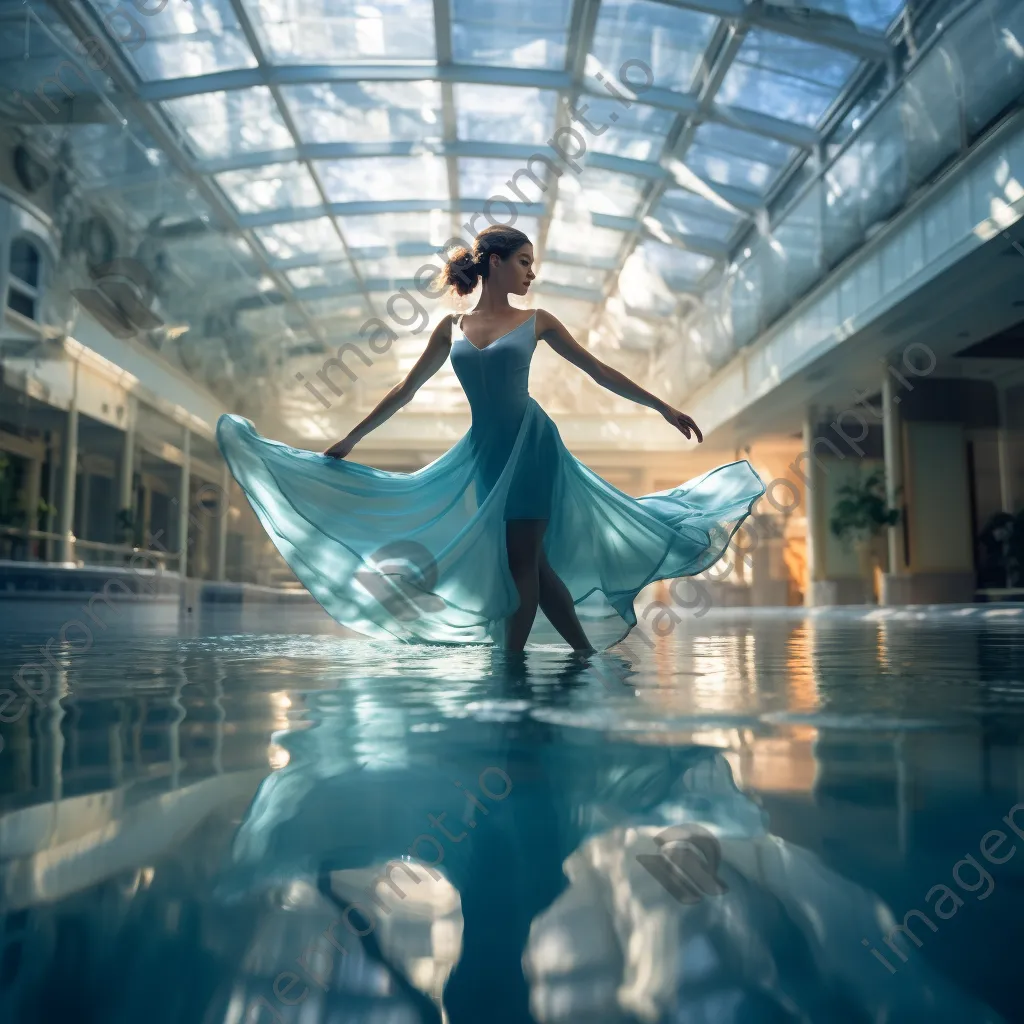
M 1018 634 L 691 630 L 97 644 L 0 726 L 0 1020 L 1014 1019 L 1024 860 L 951 870 L 1017 802 Z

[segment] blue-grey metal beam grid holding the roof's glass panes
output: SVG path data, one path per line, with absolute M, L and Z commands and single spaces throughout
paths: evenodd
M 100 23 L 98 15 L 94 12 L 83 14 L 78 5 L 73 3 L 73 0 L 51 0 L 51 2 L 79 39 L 98 33 L 113 43 L 105 26 Z M 653 233 L 646 224 L 651 212 L 667 189 L 677 184 L 691 190 L 693 190 L 694 185 L 699 187 L 699 179 L 696 181 L 692 178 L 679 180 L 673 168 L 679 165 L 685 166 L 686 155 L 700 124 L 711 122 L 727 125 L 797 147 L 801 152 L 791 163 L 790 168 L 779 175 L 779 181 L 788 179 L 794 168 L 806 157 L 808 152 L 820 154 L 821 135 L 819 132 L 778 118 L 716 101 L 718 91 L 732 67 L 746 34 L 752 29 L 778 33 L 839 49 L 876 66 L 879 61 L 891 60 L 894 52 L 892 45 L 883 35 L 864 32 L 852 23 L 824 14 L 811 17 L 793 16 L 778 7 L 773 7 L 766 0 L 657 0 L 657 2 L 670 7 L 715 15 L 720 20 L 695 72 L 690 92 L 681 93 L 663 88 L 649 88 L 644 90 L 642 99 L 638 100 L 642 104 L 671 111 L 675 115 L 665 140 L 660 159 L 657 161 L 637 161 L 603 153 L 590 153 L 585 158 L 588 169 L 627 174 L 646 182 L 635 217 L 601 215 L 592 217 L 595 225 L 610 227 L 623 232 L 623 245 L 620 248 L 617 258 L 614 261 L 595 261 L 593 259 L 577 261 L 560 257 L 560 262 L 577 263 L 577 265 L 595 268 L 599 263 L 607 262 L 611 264 L 609 268 L 621 269 L 625 260 L 641 241 L 645 239 L 665 241 L 668 239 L 669 244 L 677 246 L 681 250 L 711 256 L 718 263 L 723 263 L 730 252 L 728 245 L 715 239 L 681 234 L 668 228 Z M 333 295 L 360 295 L 371 315 L 377 314 L 372 293 L 379 290 L 377 286 L 383 281 L 383 279 L 362 279 L 357 265 L 360 256 L 357 251 L 353 251 L 349 247 L 338 218 L 364 214 L 447 211 L 451 214 L 452 234 L 458 237 L 464 228 L 464 225 L 460 224 L 460 215 L 484 212 L 486 202 L 482 199 L 461 196 L 459 159 L 484 158 L 526 161 L 541 151 L 542 147 L 522 143 L 459 139 L 454 102 L 454 89 L 457 84 L 520 86 L 554 90 L 558 94 L 554 126 L 556 131 L 558 128 L 566 128 L 571 124 L 569 110 L 582 97 L 594 95 L 607 98 L 607 94 L 596 83 L 591 83 L 585 78 L 587 56 L 593 46 L 600 13 L 600 0 L 573 0 L 566 40 L 565 67 L 561 71 L 456 63 L 453 60 L 452 50 L 450 0 L 433 0 L 435 60 L 346 66 L 273 65 L 266 58 L 259 35 L 243 0 L 229 0 L 229 4 L 256 59 L 257 66 L 255 68 L 217 72 L 186 79 L 139 82 L 137 75 L 121 55 L 120 49 L 112 45 L 112 50 L 118 55 L 108 68 L 108 73 L 118 88 L 124 92 L 126 99 L 135 109 L 146 129 L 164 146 L 172 164 L 197 187 L 204 200 L 215 211 L 221 224 L 227 230 L 238 232 L 247 240 L 261 268 L 274 281 L 285 301 L 298 305 L 300 315 L 309 334 L 325 348 L 327 343 L 317 328 L 315 318 L 310 316 L 301 301 L 313 298 L 314 294 L 316 297 L 322 297 L 321 291 L 294 288 L 285 270 L 299 266 L 347 262 L 348 272 L 352 279 L 351 288 L 335 288 L 331 290 L 331 293 Z M 861 85 L 869 74 L 870 70 L 867 69 L 856 75 L 857 85 Z M 302 141 L 299 128 L 282 95 L 283 87 L 313 83 L 373 81 L 437 82 L 440 86 L 442 138 L 436 142 L 426 143 L 398 140 L 369 143 L 305 143 Z M 267 88 L 272 95 L 278 114 L 292 137 L 293 144 L 291 146 L 263 153 L 239 154 L 216 160 L 196 160 L 187 154 L 178 139 L 177 132 L 169 127 L 169 122 L 163 113 L 155 110 L 155 105 L 163 100 L 223 90 L 250 89 L 257 86 Z M 827 123 L 831 124 L 835 121 L 835 112 L 842 103 L 845 102 L 846 106 L 849 105 L 847 98 L 853 87 L 854 85 L 851 83 L 844 90 L 841 100 L 837 100 L 834 109 L 829 111 L 828 117 L 825 119 Z M 138 101 L 135 101 L 133 97 L 137 97 Z M 317 162 L 322 160 L 412 157 L 420 153 L 433 153 L 445 161 L 450 197 L 446 201 L 389 200 L 333 203 L 330 201 L 327 188 L 317 171 Z M 253 170 L 278 163 L 301 164 L 314 183 L 321 205 L 242 215 L 234 210 L 233 205 L 227 200 L 220 187 L 211 180 L 213 175 L 226 171 Z M 519 213 L 539 218 L 540 229 L 536 240 L 539 262 L 544 259 L 548 229 L 558 201 L 558 176 L 549 173 L 548 177 L 550 180 L 546 182 L 547 189 L 544 202 L 516 205 Z M 703 185 L 706 186 L 705 195 L 713 194 L 737 211 L 748 215 L 756 214 L 765 207 L 764 197 L 746 189 L 712 182 L 703 182 Z M 769 196 L 777 194 L 777 187 L 776 183 L 776 187 L 769 190 Z M 697 194 L 699 195 L 699 191 Z M 331 224 L 337 234 L 343 255 L 339 253 L 319 255 L 313 252 L 302 254 L 292 260 L 274 260 L 266 256 L 263 246 L 254 234 L 256 228 L 310 220 L 323 216 L 331 218 Z M 749 217 L 737 224 L 732 234 L 733 244 L 750 226 Z M 394 248 L 391 247 L 392 251 Z M 421 248 L 430 249 L 429 246 Z M 435 250 L 431 251 L 435 252 Z M 422 254 L 426 262 L 427 254 L 426 252 Z M 373 257 L 364 256 L 361 258 Z M 407 286 L 415 287 L 414 283 L 402 281 Z M 388 280 L 390 285 L 396 283 Z M 567 286 L 547 286 L 545 291 L 571 298 L 587 298 L 588 301 L 596 299 L 598 304 L 591 318 L 591 325 L 596 326 L 608 297 L 613 294 L 616 288 L 617 275 L 610 275 L 600 293 L 589 289 L 571 289 Z

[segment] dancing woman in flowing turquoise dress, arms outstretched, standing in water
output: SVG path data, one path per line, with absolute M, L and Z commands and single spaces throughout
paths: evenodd
M 441 281 L 460 295 L 482 281 L 475 308 L 443 317 L 406 380 L 322 455 L 262 438 L 240 417 L 217 425 L 231 472 L 296 575 L 360 633 L 519 652 L 550 626 L 575 651 L 603 649 L 636 625 L 640 590 L 714 564 L 764 493 L 745 461 L 639 499 L 579 462 L 528 392 L 541 340 L 703 438 L 551 313 L 509 304 L 510 294 L 527 294 L 532 264 L 529 239 L 506 225 L 452 252 Z M 343 461 L 450 357 L 472 420 L 447 453 L 408 474 Z

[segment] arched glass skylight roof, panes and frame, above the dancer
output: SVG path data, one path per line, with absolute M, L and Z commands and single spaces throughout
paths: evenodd
M 226 226 L 248 321 L 262 302 L 275 331 L 315 333 L 381 315 L 438 246 L 486 226 L 494 196 L 515 199 L 534 239 L 539 301 L 557 297 L 583 330 L 633 253 L 673 293 L 700 291 L 864 61 L 885 61 L 902 0 L 801 0 L 802 13 L 783 0 L 171 0 L 128 19 L 112 0 L 54 6 L 79 39 L 122 38 L 114 87 L 97 91 L 145 104 L 129 127 L 147 156 L 81 126 L 76 166 L 138 223 Z M 638 89 L 649 70 L 634 98 L 624 62 Z M 555 175 L 541 158 L 564 168 L 550 140 L 568 138 L 570 106 L 587 153 Z

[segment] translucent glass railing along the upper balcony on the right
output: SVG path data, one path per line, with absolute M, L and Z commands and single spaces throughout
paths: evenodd
M 965 4 L 709 291 L 690 387 L 859 249 L 1024 95 L 1024 3 Z M 1019 197 L 1008 194 L 1008 205 Z

